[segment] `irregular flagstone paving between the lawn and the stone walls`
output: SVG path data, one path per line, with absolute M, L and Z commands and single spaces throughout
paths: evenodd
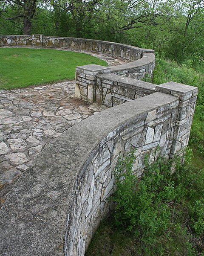
M 109 66 L 129 62 L 104 53 L 74 51 L 101 58 Z M 0 90 L 0 207 L 45 145 L 77 122 L 107 108 L 82 102 L 74 93 L 75 81 Z

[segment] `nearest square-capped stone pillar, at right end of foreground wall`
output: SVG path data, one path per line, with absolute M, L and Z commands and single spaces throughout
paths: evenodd
M 181 162 L 183 162 L 185 148 L 190 137 L 198 88 L 171 81 L 157 85 L 156 90 L 179 97 L 178 116 L 174 128 L 170 157 L 173 158 L 175 155 L 179 155 L 181 156 Z

